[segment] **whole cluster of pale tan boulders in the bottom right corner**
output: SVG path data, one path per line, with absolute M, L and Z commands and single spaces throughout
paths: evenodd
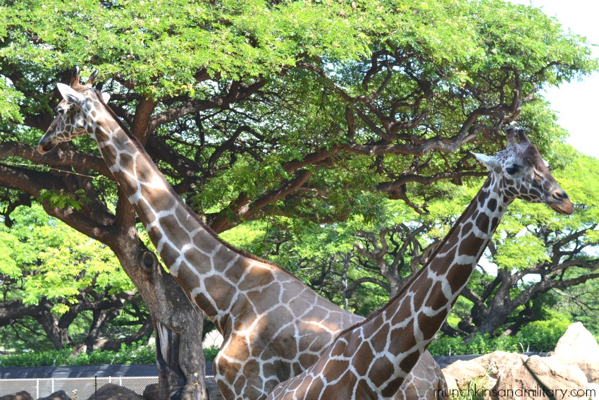
M 443 374 L 456 398 L 599 400 L 599 344 L 577 322 L 549 357 L 494 351 L 456 361 Z

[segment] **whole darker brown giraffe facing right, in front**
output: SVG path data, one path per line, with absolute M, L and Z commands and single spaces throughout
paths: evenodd
M 572 214 L 568 195 L 523 131 L 507 150 L 476 159 L 490 170 L 483 188 L 406 289 L 342 332 L 314 365 L 276 387 L 268 400 L 391 399 L 450 313 L 514 199 Z

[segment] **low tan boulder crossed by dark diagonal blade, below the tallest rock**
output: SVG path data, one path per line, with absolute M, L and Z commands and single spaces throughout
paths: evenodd
M 587 387 L 586 375 L 580 368 L 565 365 L 557 358 L 531 356 L 518 368 L 500 371 L 497 384 L 490 394 L 491 399 L 498 400 L 551 399 L 548 394 L 555 399 L 581 399 L 572 396 L 572 393 L 586 390 Z

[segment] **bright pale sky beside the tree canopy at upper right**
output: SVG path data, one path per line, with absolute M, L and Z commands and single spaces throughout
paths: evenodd
M 557 18 L 565 31 L 585 36 L 588 42 L 599 44 L 598 0 L 511 0 L 512 3 L 541 8 L 545 14 Z M 599 58 L 599 47 L 593 49 Z M 599 73 L 581 82 L 565 83 L 545 93 L 552 109 L 560 118 L 560 125 L 570 137 L 567 142 L 584 154 L 599 158 Z

